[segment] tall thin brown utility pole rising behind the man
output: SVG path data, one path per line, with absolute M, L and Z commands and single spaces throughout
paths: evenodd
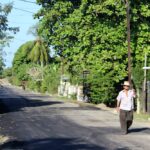
M 131 81 L 131 29 L 130 29 L 130 4 L 129 0 L 126 0 L 126 15 L 127 15 L 127 41 L 128 41 L 128 81 L 132 85 Z

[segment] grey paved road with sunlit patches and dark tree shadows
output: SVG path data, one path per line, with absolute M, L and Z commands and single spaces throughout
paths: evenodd
M 11 86 L 0 88 L 0 150 L 149 150 L 149 124 L 121 135 L 118 116 Z

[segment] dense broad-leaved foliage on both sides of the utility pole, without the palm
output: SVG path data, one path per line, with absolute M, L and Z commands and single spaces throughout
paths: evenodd
M 150 2 L 129 1 L 134 72 L 142 72 L 144 53 L 150 53 Z M 116 86 L 127 77 L 126 1 L 37 0 L 42 8 L 39 35 L 63 58 L 67 71 L 80 76 L 89 70 L 92 100 L 110 102 Z M 135 76 L 134 76 L 135 75 Z M 138 77 L 133 73 L 133 80 Z M 141 77 L 141 81 L 142 81 Z M 135 84 L 139 84 L 136 83 Z M 141 86 L 141 82 L 140 82 Z

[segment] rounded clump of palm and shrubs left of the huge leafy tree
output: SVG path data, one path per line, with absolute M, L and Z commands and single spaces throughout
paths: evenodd
M 9 70 L 4 71 L 4 75 L 8 73 Z M 49 49 L 38 39 L 26 42 L 17 50 L 10 81 L 39 92 L 56 93 L 59 74 L 59 64 L 50 59 Z

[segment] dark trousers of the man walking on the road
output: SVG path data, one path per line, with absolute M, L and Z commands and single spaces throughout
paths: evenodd
M 120 110 L 120 125 L 123 132 L 127 133 L 133 122 L 133 110 Z

